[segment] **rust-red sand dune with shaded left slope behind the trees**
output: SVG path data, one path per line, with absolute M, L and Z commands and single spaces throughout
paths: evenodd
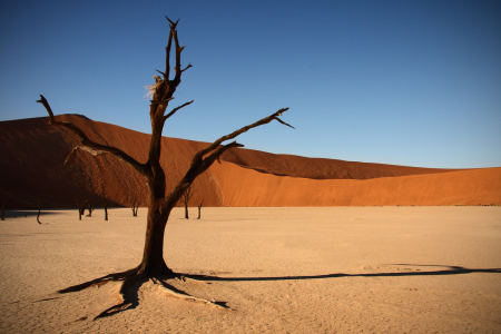
M 89 138 L 116 146 L 146 161 L 149 135 L 82 116 L 62 115 Z M 78 153 L 63 166 L 77 137 L 49 127 L 48 118 L 0 122 L 0 190 L 10 208 L 75 207 L 88 198 L 101 206 L 101 188 L 111 205 L 145 204 L 145 180 L 112 156 Z M 163 138 L 161 165 L 171 188 L 206 143 Z M 202 175 L 191 205 L 204 206 L 374 206 L 501 205 L 501 168 L 431 169 L 314 159 L 234 149 Z M 3 194 L 0 194 L 3 196 Z

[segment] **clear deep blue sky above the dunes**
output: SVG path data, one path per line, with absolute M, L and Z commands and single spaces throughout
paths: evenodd
M 186 46 L 164 136 L 352 161 L 501 166 L 501 1 L 2 1 L 0 120 L 150 132 L 168 22 Z M 145 148 L 146 149 L 146 148 Z M 168 149 L 168 148 L 166 148 Z

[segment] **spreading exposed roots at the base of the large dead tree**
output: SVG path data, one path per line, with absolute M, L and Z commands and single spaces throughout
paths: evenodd
M 82 289 L 86 289 L 88 287 L 92 287 L 92 286 L 101 286 L 106 283 L 109 283 L 111 281 L 124 281 L 121 283 L 120 286 L 120 291 L 119 291 L 119 296 L 121 298 L 121 303 L 114 305 L 105 311 L 102 311 L 101 313 L 99 313 L 97 316 L 94 317 L 94 321 L 101 318 L 101 317 L 107 317 L 107 316 L 111 316 L 114 314 L 120 313 L 122 311 L 126 310 L 130 310 L 130 308 L 136 308 L 139 305 L 139 298 L 137 295 L 137 292 L 139 289 L 139 286 L 143 285 L 143 283 L 145 283 L 148 279 L 151 279 L 153 283 L 157 284 L 159 289 L 164 293 L 166 293 L 169 296 L 176 297 L 176 298 L 180 298 L 184 301 L 191 301 L 191 302 L 198 302 L 198 303 L 204 303 L 206 305 L 219 308 L 219 310 L 232 310 L 229 306 L 226 305 L 226 302 L 216 302 L 216 301 L 208 301 L 208 299 L 204 299 L 204 298 L 198 298 L 195 296 L 191 296 L 187 293 L 185 293 L 184 291 L 177 289 L 176 287 L 165 283 L 163 281 L 163 278 L 179 278 L 185 281 L 184 276 L 180 274 L 174 274 L 171 272 L 167 273 L 168 275 L 165 277 L 157 277 L 155 276 L 150 276 L 147 275 L 146 273 L 140 271 L 140 267 L 136 267 L 126 272 L 120 272 L 120 273 L 114 273 L 114 274 L 108 274 L 106 276 L 82 283 L 82 284 L 78 284 L 78 285 L 72 285 L 69 286 L 67 288 L 60 289 L 58 291 L 59 294 L 66 294 L 66 293 L 72 293 L 72 292 L 79 292 Z M 131 286 L 136 283 L 139 282 L 139 286 L 131 288 Z

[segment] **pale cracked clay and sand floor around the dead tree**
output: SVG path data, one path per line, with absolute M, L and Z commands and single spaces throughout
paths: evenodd
M 136 266 L 146 209 L 17 215 L 0 222 L 1 333 L 501 333 L 500 207 L 176 208 L 168 265 L 226 279 L 174 285 L 234 311 L 148 282 L 97 321 L 119 283 L 55 292 Z

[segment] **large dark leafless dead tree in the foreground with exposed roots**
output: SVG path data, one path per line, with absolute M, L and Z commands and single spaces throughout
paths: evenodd
M 254 124 L 247 125 L 240 129 L 237 129 L 226 136 L 218 138 L 213 144 L 208 145 L 206 148 L 199 150 L 194 155 L 194 157 L 191 158 L 191 164 L 186 170 L 186 174 L 181 179 L 177 181 L 177 185 L 170 190 L 170 193 L 166 194 L 166 174 L 160 166 L 161 131 L 167 119 L 174 116 L 181 108 L 193 102 L 193 100 L 189 102 L 185 102 L 171 109 L 170 111 L 167 111 L 169 102 L 174 99 L 174 92 L 181 81 L 181 75 L 191 67 L 191 65 L 189 63 L 185 68 L 181 68 L 180 58 L 181 51 L 185 47 L 180 47 L 178 41 L 176 27 L 179 20 L 176 22 L 170 21 L 168 18 L 167 20 L 170 22 L 170 32 L 166 47 L 165 70 L 157 70 L 163 77 L 155 76 L 155 84 L 149 87 L 151 92 L 151 100 L 149 106 L 151 136 L 148 149 L 148 159 L 145 163 L 136 160 L 119 148 L 99 144 L 89 139 L 89 137 L 87 137 L 87 135 L 80 128 L 70 122 L 57 121 L 47 99 L 43 96 L 40 96 L 40 100 L 38 100 L 38 102 L 42 104 L 47 112 L 49 114 L 50 126 L 67 128 L 72 131 L 80 140 L 80 144 L 72 149 L 65 163 L 70 161 L 75 154 L 79 150 L 94 156 L 109 154 L 136 169 L 136 171 L 143 175 L 148 186 L 146 238 L 143 259 L 139 265 L 122 273 L 109 274 L 104 277 L 60 291 L 60 293 L 68 293 L 81 291 L 86 287 L 94 286 L 96 284 L 102 284 L 109 281 L 124 281 L 120 288 L 122 303 L 105 310 L 97 317 L 111 315 L 122 310 L 135 307 L 135 301 L 129 299 L 127 297 L 128 294 L 126 294 L 127 288 L 131 287 L 134 282 L 145 282 L 145 279 L 151 278 L 154 282 L 159 283 L 164 288 L 166 288 L 166 283 L 163 283 L 163 278 L 179 277 L 180 274 L 175 274 L 167 266 L 164 259 L 164 235 L 167 220 L 169 218 L 171 209 L 176 206 L 186 189 L 189 188 L 189 186 L 200 174 L 206 171 L 207 168 L 209 168 L 210 165 L 213 165 L 214 161 L 216 161 L 219 156 L 226 150 L 230 148 L 243 147 L 243 145 L 236 141 L 226 144 L 228 140 L 234 139 L 238 135 L 244 134 L 249 129 L 268 124 L 272 120 L 277 120 L 283 125 L 289 126 L 278 118 L 283 112 L 288 110 L 288 108 L 284 108 Z M 173 78 L 170 78 L 170 49 L 173 47 L 173 42 L 175 65 L 173 66 L 174 76 Z M 169 289 L 169 292 L 176 294 L 171 289 Z M 187 295 L 185 295 L 185 297 L 188 299 L 196 299 Z M 207 303 L 217 307 L 222 307 L 217 303 Z

